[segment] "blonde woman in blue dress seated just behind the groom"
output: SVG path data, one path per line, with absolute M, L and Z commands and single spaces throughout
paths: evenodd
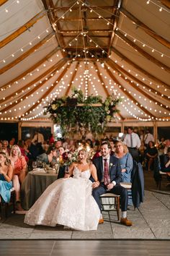
M 115 144 L 115 157 L 119 158 L 122 171 L 122 182 L 131 182 L 131 173 L 133 171 L 133 158 L 128 152 L 128 148 L 121 141 Z M 131 191 L 128 191 L 128 205 L 133 205 Z

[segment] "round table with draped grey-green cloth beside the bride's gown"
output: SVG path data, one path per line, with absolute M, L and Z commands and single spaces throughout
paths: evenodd
M 29 210 L 45 189 L 58 179 L 58 174 L 46 174 L 42 171 L 30 171 L 21 188 L 22 208 Z

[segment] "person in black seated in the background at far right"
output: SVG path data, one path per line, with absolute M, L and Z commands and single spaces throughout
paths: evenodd
M 148 142 L 148 148 L 146 148 L 146 160 L 147 160 L 147 168 L 148 171 L 151 170 L 151 166 L 153 164 L 153 161 L 158 158 L 158 150 L 154 145 L 154 142 L 150 140 Z

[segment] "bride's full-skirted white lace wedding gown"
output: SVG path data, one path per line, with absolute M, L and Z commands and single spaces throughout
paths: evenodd
M 51 184 L 26 213 L 31 226 L 61 224 L 81 231 L 97 230 L 100 211 L 91 195 L 90 171 L 73 170 L 73 178 Z

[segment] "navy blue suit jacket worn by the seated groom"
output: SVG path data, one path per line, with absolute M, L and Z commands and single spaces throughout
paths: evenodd
M 96 166 L 97 168 L 97 177 L 99 179 L 99 182 L 101 182 L 103 177 L 102 156 L 99 156 L 99 158 L 94 158 L 93 163 L 94 163 L 94 166 Z M 120 167 L 120 161 L 114 155 L 109 156 L 109 176 L 110 176 L 111 182 L 115 181 L 116 184 L 119 184 L 121 182 L 122 172 Z

